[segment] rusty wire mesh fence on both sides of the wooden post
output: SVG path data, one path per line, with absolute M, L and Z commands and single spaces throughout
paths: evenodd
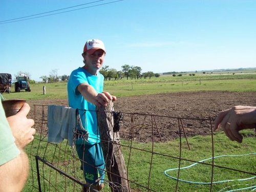
M 114 115 L 113 112 L 106 113 Z M 70 146 L 66 139 L 59 143 L 48 142 L 48 105 L 34 105 L 34 121 L 38 135 L 29 148 L 31 177 L 26 188 L 31 191 L 82 191 L 90 188 L 84 181 L 75 147 Z M 120 141 L 112 144 L 121 147 L 128 191 L 256 190 L 255 154 L 246 154 L 245 158 L 250 158 L 251 163 L 244 167 L 229 164 L 233 157 L 216 156 L 218 148 L 211 118 L 122 113 L 122 118 L 115 123 Z M 168 129 L 163 130 L 164 126 Z M 193 136 L 195 126 L 208 136 L 190 139 L 188 136 Z M 176 142 L 172 142 L 174 139 Z M 101 143 L 109 144 L 102 140 Z M 104 172 L 108 171 L 104 169 Z M 225 178 L 226 175 L 229 179 Z M 115 190 L 113 186 L 115 183 L 105 178 L 101 191 L 126 191 Z

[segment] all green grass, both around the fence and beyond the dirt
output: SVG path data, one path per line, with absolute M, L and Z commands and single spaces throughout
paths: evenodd
M 46 86 L 46 95 L 42 94 L 42 87 Z M 200 74 L 196 76 L 183 75 L 181 77 L 173 77 L 168 75 L 160 76 L 159 78 L 151 79 L 139 79 L 139 80 L 111 80 L 104 82 L 105 91 L 109 91 L 111 94 L 117 97 L 135 96 L 135 95 L 147 95 L 147 94 L 160 94 L 160 93 L 172 93 L 172 92 L 188 92 L 188 91 L 229 91 L 229 92 L 256 92 L 256 73 L 241 73 L 241 74 Z M 13 89 L 12 89 L 13 90 Z M 58 83 L 34 83 L 31 84 L 31 92 L 20 92 L 3 94 L 5 99 L 22 98 L 27 100 L 40 100 L 40 99 L 67 99 L 67 82 Z M 241 155 L 251 154 L 256 151 L 256 141 L 253 131 L 244 131 L 244 141 L 242 144 L 230 141 L 222 132 L 217 132 L 214 135 L 215 141 L 215 156 L 221 155 Z M 38 137 L 38 136 L 37 136 Z M 196 136 L 188 139 L 191 146 L 191 150 L 188 150 L 185 141 L 182 140 L 182 158 L 193 161 L 200 161 L 211 157 L 211 137 L 210 136 Z M 54 146 L 47 146 L 42 144 L 39 146 L 39 140 L 35 139 L 33 145 L 27 146 L 26 150 L 28 154 L 31 154 L 31 165 L 35 169 L 35 160 L 33 155 L 41 151 L 45 153 L 46 158 L 56 158 L 56 148 Z M 152 148 L 152 143 L 136 143 L 133 142 L 132 154 L 130 154 L 131 143 L 123 140 L 122 147 L 125 161 L 130 159 L 129 179 L 140 183 L 143 186 L 149 186 L 155 191 L 175 191 L 176 181 L 172 178 L 164 175 L 164 171 L 170 168 L 177 168 L 179 161 L 176 158 L 179 157 L 179 140 L 173 140 L 166 143 L 155 143 Z M 143 149 L 145 151 L 136 150 Z M 61 151 L 61 150 L 59 150 Z M 154 153 L 152 153 L 152 151 Z M 152 155 L 153 154 L 153 155 Z M 67 157 L 60 156 L 61 160 L 67 160 Z M 256 172 L 256 157 L 239 156 L 239 157 L 223 157 L 215 159 L 215 165 L 221 165 L 224 167 L 232 167 L 234 169 L 243 170 L 246 172 Z M 181 161 L 181 167 L 193 164 L 189 161 Z M 211 164 L 211 160 L 206 163 Z M 67 170 L 74 167 L 79 167 L 79 163 L 70 167 L 69 165 L 61 166 L 61 168 Z M 126 164 L 126 166 L 128 166 Z M 149 173 L 150 167 L 152 168 Z M 77 168 L 79 173 L 79 168 Z M 209 182 L 211 179 L 212 168 L 209 165 L 198 164 L 188 169 L 181 169 L 180 179 L 192 182 Z M 40 170 L 42 172 L 42 170 Z M 48 173 L 47 173 L 48 172 Z M 49 174 L 52 170 L 45 170 L 44 174 Z M 177 171 L 167 172 L 170 176 L 177 177 Z M 233 170 L 227 170 L 225 168 L 214 168 L 214 181 L 232 180 L 232 179 L 245 179 L 252 177 L 251 174 L 243 174 Z M 81 175 L 77 175 L 78 178 L 82 178 Z M 23 191 L 31 191 L 32 186 L 36 185 L 37 181 L 36 173 L 30 174 L 28 183 Z M 67 180 L 63 181 L 63 176 L 59 174 L 53 174 L 50 178 L 51 183 L 56 185 L 58 191 L 63 191 L 67 186 Z M 212 191 L 227 191 L 235 188 L 245 188 L 255 185 L 255 178 L 245 181 L 230 181 L 220 184 L 214 184 Z M 55 191 L 55 186 L 51 184 L 44 184 L 45 191 Z M 73 185 L 67 191 L 72 191 Z M 133 189 L 138 191 L 147 191 L 144 187 L 131 183 Z M 225 190 L 224 190 L 225 189 Z M 35 189 L 34 189 L 35 190 Z M 194 184 L 187 182 L 179 182 L 178 191 L 209 191 L 210 186 L 207 184 Z M 35 190 L 36 191 L 36 190 Z M 79 190 L 78 190 L 79 191 Z M 108 187 L 105 187 L 103 191 L 110 191 Z

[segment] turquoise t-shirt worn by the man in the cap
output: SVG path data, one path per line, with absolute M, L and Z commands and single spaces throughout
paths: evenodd
M 98 131 L 96 106 L 86 99 L 78 92 L 77 86 L 81 83 L 90 84 L 97 93 L 103 91 L 104 77 L 99 72 L 97 75 L 92 75 L 84 68 L 79 67 L 74 70 L 68 81 L 68 100 L 69 106 L 79 110 L 82 125 L 88 132 L 88 142 L 85 144 L 93 144 L 100 142 L 100 134 Z

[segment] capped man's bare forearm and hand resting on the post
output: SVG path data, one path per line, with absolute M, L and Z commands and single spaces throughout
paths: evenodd
M 111 95 L 109 92 L 103 91 L 102 93 L 97 93 L 88 83 L 79 84 L 79 86 L 77 86 L 77 90 L 81 93 L 84 99 L 96 106 L 106 106 L 109 101 L 116 100 L 116 96 Z

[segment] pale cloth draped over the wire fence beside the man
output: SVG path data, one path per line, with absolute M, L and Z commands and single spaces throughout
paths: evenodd
M 77 126 L 77 112 L 74 108 L 66 106 L 48 106 L 48 141 L 59 143 L 68 139 L 73 145 L 74 132 Z

